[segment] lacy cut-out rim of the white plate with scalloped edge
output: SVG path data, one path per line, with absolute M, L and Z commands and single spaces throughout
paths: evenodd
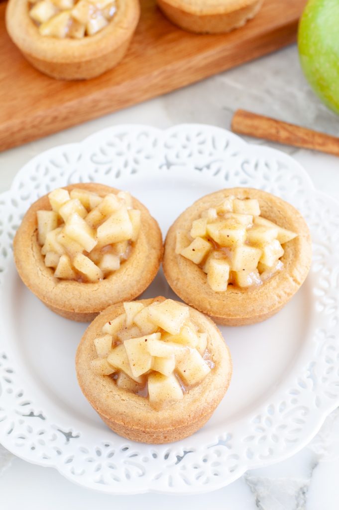
M 84 142 L 37 156 L 0 196 L 0 290 L 12 264 L 12 241 L 30 204 L 68 183 L 97 181 L 120 187 L 159 172 L 215 187 L 250 186 L 293 203 L 314 242 L 312 292 L 316 317 L 300 359 L 269 401 L 215 437 L 194 435 L 179 443 L 147 446 L 109 430 L 98 438 L 84 425 L 61 423 L 52 406 L 40 408 L 27 390 L 6 331 L 0 339 L 0 441 L 27 461 L 57 468 L 86 487 L 107 493 L 198 493 L 225 486 L 246 469 L 282 460 L 301 448 L 339 404 L 339 204 L 316 191 L 289 156 L 249 145 L 206 125 L 167 131 L 122 125 Z M 3 317 L 4 323 L 6 318 Z M 105 439 L 109 438 L 109 440 Z

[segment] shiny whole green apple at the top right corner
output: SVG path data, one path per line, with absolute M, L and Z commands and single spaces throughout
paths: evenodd
M 314 91 L 339 114 L 339 0 L 309 0 L 299 23 L 301 67 Z

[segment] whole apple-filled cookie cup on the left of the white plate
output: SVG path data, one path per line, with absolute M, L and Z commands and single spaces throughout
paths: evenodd
M 159 225 L 129 193 L 74 184 L 39 198 L 13 243 L 23 283 L 51 310 L 91 321 L 139 296 L 158 272 Z

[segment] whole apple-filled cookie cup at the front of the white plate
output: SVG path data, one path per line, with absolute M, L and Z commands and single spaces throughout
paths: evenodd
M 212 320 L 164 297 L 104 310 L 85 331 L 75 364 L 101 419 L 143 443 L 192 435 L 213 414 L 232 372 Z

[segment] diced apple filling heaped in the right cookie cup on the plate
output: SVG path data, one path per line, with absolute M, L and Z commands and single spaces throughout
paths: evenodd
M 260 216 L 254 198 L 226 197 L 176 233 L 175 253 L 199 265 L 214 292 L 262 285 L 283 268 L 282 244 L 297 234 Z

